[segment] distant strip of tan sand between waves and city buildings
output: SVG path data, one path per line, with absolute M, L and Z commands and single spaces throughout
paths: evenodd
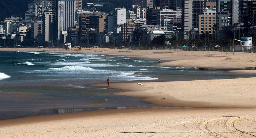
M 95 51 L 94 51 L 95 50 Z M 256 67 L 256 54 L 216 51 L 183 51 L 176 50 L 130 50 L 130 49 L 109 49 L 109 48 L 78 48 L 53 49 L 53 48 L 0 48 L 0 51 L 22 51 L 22 52 L 52 52 L 52 53 L 82 53 L 82 54 L 103 54 L 109 56 L 125 56 L 131 58 L 144 58 L 162 61 L 157 66 L 174 66 L 188 68 L 251 68 Z M 254 72 L 253 72 L 254 73 Z M 255 71 L 256 73 L 256 71 Z

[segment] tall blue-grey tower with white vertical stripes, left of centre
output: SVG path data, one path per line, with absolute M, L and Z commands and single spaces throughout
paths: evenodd
M 57 38 L 60 40 L 63 31 L 69 31 L 75 23 L 75 0 L 58 0 Z

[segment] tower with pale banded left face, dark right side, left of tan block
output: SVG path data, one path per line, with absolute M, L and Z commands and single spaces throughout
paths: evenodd
M 199 15 L 204 12 L 204 0 L 182 0 L 182 31 L 199 27 Z

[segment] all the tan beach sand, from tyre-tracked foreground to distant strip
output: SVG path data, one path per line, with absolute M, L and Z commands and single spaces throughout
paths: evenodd
M 245 68 L 256 66 L 254 53 L 181 50 L 129 50 L 106 48 L 8 49 L 89 53 L 159 58 L 159 66 Z M 231 73 L 256 73 L 232 70 Z M 95 86 L 105 86 L 97 84 Z M 172 106 L 165 109 L 117 109 L 46 115 L 0 121 L 0 138 L 9 137 L 108 137 L 108 138 L 255 138 L 256 78 L 173 82 L 113 83 L 112 88 L 129 90 L 116 94 L 143 97 L 145 101 Z M 178 108 L 182 107 L 182 108 Z

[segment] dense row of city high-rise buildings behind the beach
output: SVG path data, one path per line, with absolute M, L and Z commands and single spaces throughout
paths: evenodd
M 181 7 L 177 7 L 176 0 L 157 0 L 155 3 L 152 0 L 133 0 L 129 7 L 115 7 L 104 2 L 87 2 L 82 6 L 82 0 L 34 0 L 27 4 L 24 18 L 11 16 L 0 22 L 1 42 L 3 38 L 10 38 L 15 39 L 15 44 L 24 46 L 36 46 L 36 42 L 37 46 L 39 42 L 54 47 L 63 47 L 65 43 L 78 45 L 78 42 L 90 46 L 89 41 L 94 45 L 112 46 L 118 42 L 138 46 L 139 42 L 140 46 L 140 42 L 152 45 L 153 39 L 159 36 L 164 36 L 171 44 L 175 39 L 201 39 L 202 34 L 218 33 L 217 38 L 226 36 L 230 39 L 231 36 L 239 38 L 255 34 L 254 0 L 247 4 L 244 0 L 181 2 Z M 105 12 L 108 8 L 113 10 Z M 225 34 L 234 33 L 234 27 L 240 27 L 244 33 Z M 208 39 L 210 41 L 210 37 Z

